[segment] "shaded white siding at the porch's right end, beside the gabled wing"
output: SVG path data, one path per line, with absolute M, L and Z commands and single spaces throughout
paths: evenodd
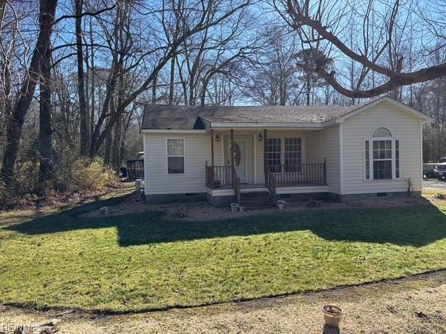
M 305 152 L 307 164 L 321 164 L 326 159 L 328 191 L 341 193 L 339 125 L 307 133 Z

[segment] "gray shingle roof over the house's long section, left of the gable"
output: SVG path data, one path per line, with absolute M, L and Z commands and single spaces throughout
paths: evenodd
M 146 104 L 142 129 L 203 129 L 204 122 L 322 123 L 354 106 L 167 106 Z

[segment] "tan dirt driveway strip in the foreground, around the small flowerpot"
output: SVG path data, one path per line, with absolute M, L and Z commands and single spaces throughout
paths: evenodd
M 59 333 L 446 333 L 446 271 L 387 283 L 136 315 L 0 307 L 2 326 L 59 318 Z M 340 328 L 321 306 L 344 310 Z

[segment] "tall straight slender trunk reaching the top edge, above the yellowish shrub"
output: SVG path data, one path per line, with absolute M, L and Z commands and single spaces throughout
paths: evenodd
M 79 96 L 79 116 L 80 116 L 80 134 L 81 134 L 81 155 L 89 154 L 90 128 L 88 115 L 86 111 L 85 100 L 85 79 L 84 79 L 84 53 L 82 47 L 82 7 L 84 0 L 76 0 L 76 51 L 77 51 L 77 95 Z

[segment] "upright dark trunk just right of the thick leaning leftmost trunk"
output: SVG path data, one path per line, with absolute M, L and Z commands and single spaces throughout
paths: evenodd
M 48 180 L 52 172 L 52 128 L 51 128 L 51 50 L 49 47 L 40 67 L 39 109 L 39 180 Z

